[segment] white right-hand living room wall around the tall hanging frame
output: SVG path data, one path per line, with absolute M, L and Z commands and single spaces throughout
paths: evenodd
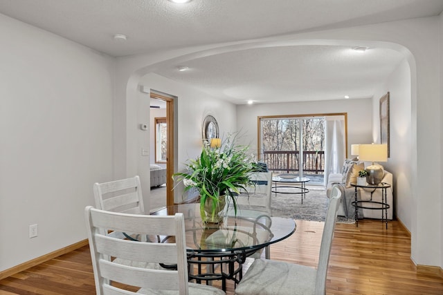
M 379 99 L 389 91 L 390 100 L 390 158 L 380 163 L 392 172 L 394 179 L 394 201 L 397 218 L 410 231 L 412 228 L 412 129 L 411 129 L 411 96 L 410 68 L 406 60 L 395 69 L 374 95 L 373 100 L 373 141 L 380 143 Z

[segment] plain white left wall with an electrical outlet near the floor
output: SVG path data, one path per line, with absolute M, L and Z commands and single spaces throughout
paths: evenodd
M 113 172 L 115 60 L 4 15 L 0 35 L 2 271 L 87 238 Z

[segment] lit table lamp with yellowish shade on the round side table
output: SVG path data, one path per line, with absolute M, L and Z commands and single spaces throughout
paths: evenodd
M 368 184 L 379 184 L 383 179 L 383 167 L 374 162 L 388 162 L 388 145 L 359 144 L 359 160 L 372 162 L 372 165 L 365 168 L 369 173 L 366 182 Z

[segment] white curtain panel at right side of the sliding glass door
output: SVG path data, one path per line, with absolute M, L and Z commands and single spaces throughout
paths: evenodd
M 325 186 L 331 173 L 341 173 L 345 162 L 345 117 L 325 117 Z

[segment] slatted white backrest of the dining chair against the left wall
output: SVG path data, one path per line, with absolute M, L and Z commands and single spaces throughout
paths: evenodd
M 140 178 L 126 178 L 93 186 L 96 208 L 131 214 L 144 214 Z

